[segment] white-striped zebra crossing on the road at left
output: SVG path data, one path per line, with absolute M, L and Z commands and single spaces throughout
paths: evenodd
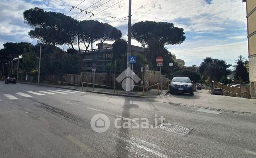
M 72 91 L 69 89 L 64 89 L 64 90 L 47 90 L 47 91 L 26 91 L 26 92 L 16 92 L 15 94 L 3 94 L 6 98 L 10 100 L 14 99 L 19 99 L 19 96 L 24 97 L 24 98 L 30 98 L 33 96 L 45 96 L 45 95 L 56 95 L 56 94 L 75 94 L 75 93 L 85 93 L 81 91 Z M 18 98 L 17 98 L 18 97 Z M 2 101 L 0 99 L 0 101 Z

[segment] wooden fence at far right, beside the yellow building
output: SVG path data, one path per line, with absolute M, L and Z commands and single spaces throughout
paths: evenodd
M 233 87 L 233 86 L 230 87 L 228 85 L 224 85 L 222 83 L 217 83 L 217 82 L 213 82 L 213 85 L 216 87 L 219 87 L 221 89 L 224 89 L 227 92 L 230 92 L 230 93 L 234 92 L 238 96 L 240 96 L 241 93 L 249 93 L 250 94 L 250 87 L 244 86 L 244 85 L 241 85 L 240 87 Z

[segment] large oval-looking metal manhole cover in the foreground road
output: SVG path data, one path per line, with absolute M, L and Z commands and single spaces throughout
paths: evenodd
M 186 135 L 190 132 L 190 129 L 179 126 L 176 124 L 170 124 L 170 123 L 162 123 L 158 126 L 158 128 L 161 128 L 162 130 L 169 131 L 172 133 L 178 133 L 178 134 L 183 134 Z

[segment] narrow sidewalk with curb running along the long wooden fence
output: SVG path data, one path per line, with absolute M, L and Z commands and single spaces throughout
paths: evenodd
M 48 84 L 48 83 L 37 84 L 37 83 L 33 83 L 33 82 L 19 82 L 19 83 L 47 86 L 47 87 L 56 87 L 56 88 L 62 88 L 62 89 L 71 89 L 71 90 L 75 90 L 75 91 L 82 91 L 82 87 L 73 86 L 73 85 L 59 85 L 59 84 Z M 83 87 L 83 91 L 87 91 L 87 87 Z M 157 98 L 157 97 L 159 97 L 157 89 L 152 89 L 152 90 L 146 91 L 145 94 L 143 94 L 140 91 L 134 91 L 134 92 L 127 93 L 126 91 L 121 90 L 121 89 L 117 89 L 114 92 L 114 89 L 106 89 L 106 88 L 94 88 L 94 91 L 93 91 L 93 88 L 89 87 L 88 92 L 114 95 L 114 96 L 137 97 L 137 98 Z M 163 94 L 161 94 L 161 96 L 165 95 L 167 92 L 168 91 L 163 90 Z

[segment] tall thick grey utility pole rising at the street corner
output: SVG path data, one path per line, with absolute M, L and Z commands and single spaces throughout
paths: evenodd
M 132 16 L 132 0 L 129 0 L 129 14 L 128 14 L 128 46 L 127 46 L 127 68 L 130 67 L 129 65 L 129 56 L 131 55 L 131 35 L 132 35 L 132 22 L 131 22 L 131 16 Z M 128 71 L 126 71 L 128 73 Z M 131 76 L 131 74 L 126 74 L 126 76 Z M 130 83 L 128 80 L 126 80 L 126 90 L 130 89 Z

